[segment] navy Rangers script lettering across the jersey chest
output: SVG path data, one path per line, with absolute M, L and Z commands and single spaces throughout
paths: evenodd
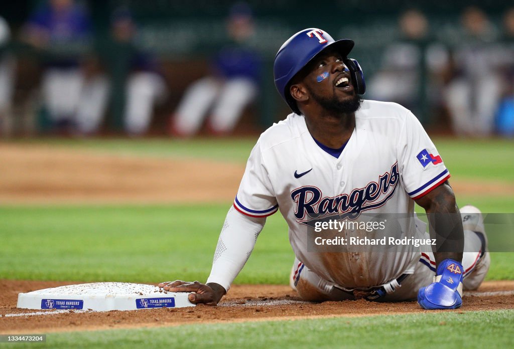
M 291 191 L 291 199 L 296 204 L 295 217 L 299 223 L 307 225 L 315 223 L 310 219 L 356 219 L 362 211 L 385 204 L 394 195 L 399 179 L 398 163 L 395 163 L 389 172 L 379 176 L 378 182 L 353 189 L 350 194 L 331 198 L 323 197 L 315 186 L 297 188 Z

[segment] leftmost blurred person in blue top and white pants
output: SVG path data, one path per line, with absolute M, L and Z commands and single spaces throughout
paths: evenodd
M 107 82 L 91 55 L 87 9 L 73 0 L 49 0 L 25 26 L 25 41 L 39 50 L 44 65 L 42 98 L 51 128 L 95 131 L 106 102 Z

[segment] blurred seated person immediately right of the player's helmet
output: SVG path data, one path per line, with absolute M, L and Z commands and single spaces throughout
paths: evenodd
M 433 77 L 444 66 L 445 49 L 430 39 L 427 17 L 416 9 L 403 12 L 398 26 L 399 40 L 384 52 L 368 93 L 378 101 L 399 103 L 426 122 L 429 96 L 436 90 Z

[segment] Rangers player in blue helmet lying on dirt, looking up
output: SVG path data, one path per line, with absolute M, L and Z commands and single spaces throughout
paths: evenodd
M 296 256 L 291 284 L 305 300 L 417 298 L 425 309 L 458 308 L 463 288 L 480 285 L 490 263 L 480 210 L 459 211 L 450 173 L 409 110 L 361 99 L 364 75 L 347 57 L 353 46 L 317 28 L 282 45 L 274 80 L 293 112 L 251 151 L 207 283 L 177 280 L 159 287 L 193 292 L 194 303 L 217 304 L 266 217 L 278 210 Z M 426 210 L 430 233 L 414 203 Z M 391 214 L 398 219 L 378 222 Z M 349 222 L 357 227 L 348 228 Z M 403 239 L 394 238 L 398 232 Z M 393 242 L 382 249 L 349 242 L 378 245 L 388 235 Z M 416 236 L 430 243 L 414 243 Z

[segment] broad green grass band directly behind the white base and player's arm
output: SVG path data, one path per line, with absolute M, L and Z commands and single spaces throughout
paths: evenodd
M 0 278 L 205 281 L 229 205 L 0 207 Z M 287 239 L 268 218 L 235 282 L 287 283 Z M 514 253 L 494 253 L 488 279 L 514 279 Z

